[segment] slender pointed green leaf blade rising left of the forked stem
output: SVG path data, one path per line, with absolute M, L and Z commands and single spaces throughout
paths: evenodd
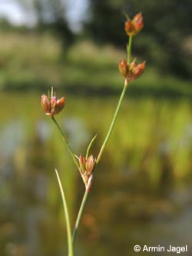
M 61 198 L 62 198 L 63 208 L 64 208 L 64 212 L 65 212 L 65 221 L 66 221 L 67 236 L 68 236 L 68 256 L 73 256 L 73 243 L 72 243 L 72 236 L 71 236 L 71 225 L 70 225 L 70 220 L 69 220 L 69 215 L 68 215 L 68 206 L 67 206 L 67 202 L 65 199 L 63 187 L 61 185 L 61 179 L 59 178 L 57 169 L 55 169 L 55 173 L 58 178 L 58 185 L 59 185 L 59 188 L 61 191 Z

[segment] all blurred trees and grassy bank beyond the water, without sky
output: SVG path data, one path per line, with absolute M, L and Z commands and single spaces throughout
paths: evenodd
M 14 28 L 2 19 L 0 89 L 31 90 L 55 85 L 72 93 L 107 95 L 121 91 L 123 79 L 118 74 L 118 62 L 126 58 L 128 40 L 123 12 L 133 17 L 142 11 L 145 25 L 134 38 L 133 56 L 138 61 L 147 60 L 147 68 L 142 81 L 135 81 L 129 93 L 191 98 L 190 1 L 162 4 L 151 0 L 90 0 L 89 19 L 76 34 L 58 12 L 59 2 L 53 6 L 47 2 L 50 13 L 57 11 L 50 21 L 43 19 L 46 9 L 41 1 L 35 5 L 35 28 Z

